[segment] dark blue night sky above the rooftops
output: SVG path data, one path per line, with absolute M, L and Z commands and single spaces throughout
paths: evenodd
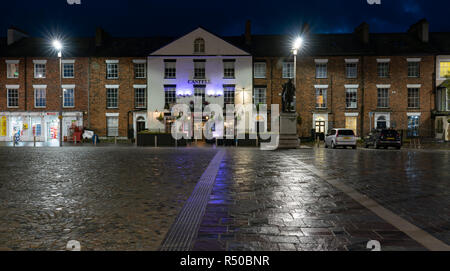
M 450 31 L 449 0 L 67 0 L 2 1 L 0 35 L 14 25 L 33 36 L 61 32 L 93 36 L 97 26 L 114 36 L 177 36 L 201 25 L 219 35 L 241 35 L 246 20 L 255 34 L 294 34 L 303 23 L 316 33 L 352 32 L 361 22 L 371 32 L 404 32 L 422 18 L 431 31 Z M 444 12 L 443 12 L 444 11 Z

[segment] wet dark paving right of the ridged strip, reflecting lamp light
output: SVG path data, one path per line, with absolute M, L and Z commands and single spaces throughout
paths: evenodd
M 227 150 L 193 250 L 425 250 L 312 165 L 447 245 L 450 152 Z M 303 165 L 303 167 L 302 167 Z

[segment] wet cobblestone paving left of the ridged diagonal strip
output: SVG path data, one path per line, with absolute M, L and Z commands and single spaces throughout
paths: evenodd
M 215 153 L 0 148 L 0 250 L 156 250 Z

